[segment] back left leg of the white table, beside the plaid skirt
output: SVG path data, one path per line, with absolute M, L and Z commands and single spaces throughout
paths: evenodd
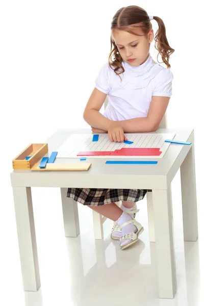
M 77 237 L 80 234 L 78 203 L 67 197 L 67 188 L 60 189 L 65 237 Z

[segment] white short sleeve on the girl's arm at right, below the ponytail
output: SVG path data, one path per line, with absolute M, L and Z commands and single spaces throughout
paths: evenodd
M 162 69 L 156 76 L 152 96 L 171 97 L 173 73 L 169 68 Z

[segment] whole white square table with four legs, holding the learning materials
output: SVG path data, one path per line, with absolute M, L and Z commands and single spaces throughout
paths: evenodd
M 87 134 L 91 133 L 91 130 L 58 130 L 45 141 L 48 143 L 48 154 L 56 151 L 72 133 Z M 170 184 L 181 167 L 184 240 L 196 241 L 198 231 L 194 131 L 192 129 L 159 129 L 153 133 L 175 133 L 175 140 L 192 142 L 192 145 L 170 144 L 163 158 L 151 158 L 151 160 L 158 160 L 156 165 L 107 165 L 105 162 L 110 158 L 87 158 L 85 162 L 92 163 L 88 171 L 13 170 L 11 172 L 24 291 L 37 291 L 40 288 L 31 187 L 61 188 L 66 237 L 77 237 L 80 234 L 78 206 L 74 200 L 66 197 L 68 187 L 131 188 L 152 190 L 159 297 L 174 297 L 176 272 Z M 149 159 L 140 158 L 139 160 Z M 67 158 L 56 159 L 55 162 L 82 161 L 79 158 Z

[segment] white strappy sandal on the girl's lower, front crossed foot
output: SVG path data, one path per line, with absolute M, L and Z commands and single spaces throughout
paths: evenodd
M 123 245 L 122 247 L 120 247 L 121 250 L 131 246 L 132 244 L 136 243 L 138 241 L 138 237 L 142 234 L 142 232 L 144 231 L 144 227 L 138 222 L 136 221 L 134 218 L 130 221 L 127 221 L 127 222 L 124 222 L 122 223 L 122 225 L 120 225 L 120 228 L 124 227 L 125 225 L 127 224 L 134 224 L 137 226 L 138 228 L 138 231 L 137 233 L 128 233 L 128 234 L 125 234 L 124 236 L 122 236 L 118 242 L 121 243 L 122 240 L 124 239 L 131 239 L 132 241 L 130 241 L 129 243 L 126 243 L 125 245 Z

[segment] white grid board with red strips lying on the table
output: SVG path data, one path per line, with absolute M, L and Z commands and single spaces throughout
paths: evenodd
M 92 141 L 92 134 L 72 134 L 57 148 L 57 158 L 75 158 L 77 156 L 101 158 L 110 155 L 121 158 L 126 156 L 151 158 L 154 155 L 162 158 L 170 145 L 164 140 L 166 138 L 173 139 L 175 134 L 125 133 L 125 136 L 133 143 L 110 141 L 108 135 L 104 133 L 99 134 L 96 142 Z

